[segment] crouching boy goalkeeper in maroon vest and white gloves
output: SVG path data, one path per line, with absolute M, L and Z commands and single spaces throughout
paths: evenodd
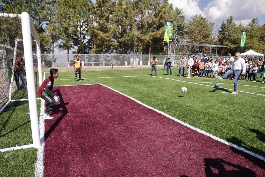
M 56 102 L 60 100 L 59 96 L 54 95 L 52 91 L 54 78 L 58 77 L 58 69 L 50 69 L 50 77 L 47 77 L 39 87 L 37 95 L 44 99 L 48 104 L 46 105 L 46 111 L 43 115 L 39 116 L 41 119 L 53 119 L 49 115 L 49 112 L 53 109 Z

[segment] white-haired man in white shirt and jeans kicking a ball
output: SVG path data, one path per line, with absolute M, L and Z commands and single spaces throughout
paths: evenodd
M 233 66 L 230 71 L 224 73 L 222 77 L 217 76 L 217 79 L 223 81 L 228 75 L 234 75 L 234 91 L 231 94 L 237 94 L 237 81 L 240 78 L 240 75 L 244 75 L 246 72 L 246 63 L 243 58 L 240 57 L 240 53 L 235 54 L 236 60 L 233 61 Z

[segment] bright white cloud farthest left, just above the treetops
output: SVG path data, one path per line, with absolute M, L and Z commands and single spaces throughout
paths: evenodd
M 186 19 L 190 20 L 191 16 L 196 14 L 201 14 L 203 17 L 205 17 L 204 13 L 198 6 L 199 1 L 200 0 L 169 0 L 168 2 L 172 4 L 173 7 L 182 9 Z

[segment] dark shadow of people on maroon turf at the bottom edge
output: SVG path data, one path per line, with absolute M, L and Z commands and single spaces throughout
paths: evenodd
M 233 170 L 227 170 L 231 168 Z M 219 158 L 205 158 L 204 170 L 206 176 L 256 176 L 254 171 L 246 167 L 226 162 Z

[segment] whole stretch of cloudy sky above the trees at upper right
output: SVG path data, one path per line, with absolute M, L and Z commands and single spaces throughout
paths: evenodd
M 191 19 L 192 15 L 201 14 L 212 23 L 220 25 L 223 21 L 233 16 L 235 23 L 240 22 L 246 26 L 251 19 L 265 15 L 265 0 L 212 0 L 203 11 L 198 3 L 201 0 L 169 0 L 173 7 L 182 9 L 186 19 Z M 261 19 L 260 19 L 261 20 Z

